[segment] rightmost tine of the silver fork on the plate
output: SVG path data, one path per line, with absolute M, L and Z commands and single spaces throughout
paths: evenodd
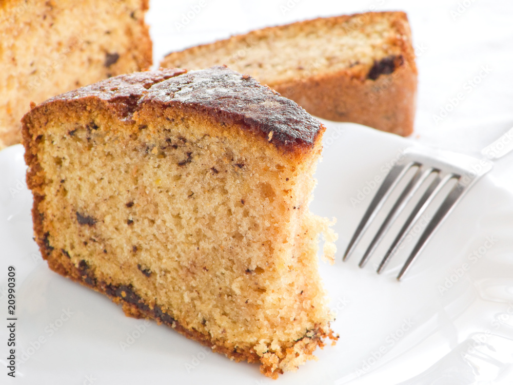
M 458 182 L 449 192 L 449 195 L 447 195 L 447 197 L 442 202 L 433 218 L 427 224 L 426 229 L 419 238 L 419 241 L 417 242 L 415 247 L 413 247 L 413 250 L 408 256 L 406 262 L 404 263 L 401 272 L 397 276 L 398 281 L 404 274 L 406 274 L 411 263 L 422 251 L 429 237 L 431 237 L 437 226 L 447 217 L 447 214 L 450 213 L 452 207 L 455 206 L 456 202 L 458 202 L 458 200 L 463 196 L 464 191 L 465 187 L 460 182 Z

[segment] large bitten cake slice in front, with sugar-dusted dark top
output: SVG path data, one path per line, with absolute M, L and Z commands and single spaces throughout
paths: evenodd
M 333 337 L 308 210 L 324 126 L 225 67 L 120 75 L 23 118 L 55 272 L 276 377 Z M 170 348 L 172 349 L 172 348 Z

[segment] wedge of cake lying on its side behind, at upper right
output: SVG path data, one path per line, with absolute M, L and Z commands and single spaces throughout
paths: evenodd
M 403 136 L 413 130 L 417 67 L 404 12 L 264 28 L 168 54 L 162 67 L 226 64 L 318 117 Z

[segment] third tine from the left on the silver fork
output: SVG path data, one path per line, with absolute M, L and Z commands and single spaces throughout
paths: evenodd
M 406 222 L 404 223 L 403 227 L 401 228 L 399 234 L 397 235 L 396 239 L 393 240 L 392 244 L 388 248 L 387 253 L 385 254 L 385 257 L 381 261 L 379 267 L 378 267 L 378 274 L 383 271 L 383 268 L 385 268 L 386 264 L 390 260 L 393 254 L 395 254 L 398 250 L 401 244 L 403 243 L 404 239 L 410 232 L 411 228 L 417 220 L 424 214 L 424 211 L 426 210 L 427 206 L 435 197 L 437 196 L 438 192 L 443 188 L 443 186 L 452 178 L 454 178 L 455 175 L 453 174 L 447 174 L 444 177 L 441 176 L 441 172 L 438 172 L 437 177 L 435 180 L 431 182 L 427 190 L 422 195 L 421 199 L 413 208 L 410 216 L 408 219 L 406 219 Z

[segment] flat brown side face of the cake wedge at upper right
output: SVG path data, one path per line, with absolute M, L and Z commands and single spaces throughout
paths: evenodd
M 342 71 L 274 89 L 323 119 L 359 123 L 401 136 L 413 131 L 417 74 L 406 67 L 376 81 L 361 81 Z

